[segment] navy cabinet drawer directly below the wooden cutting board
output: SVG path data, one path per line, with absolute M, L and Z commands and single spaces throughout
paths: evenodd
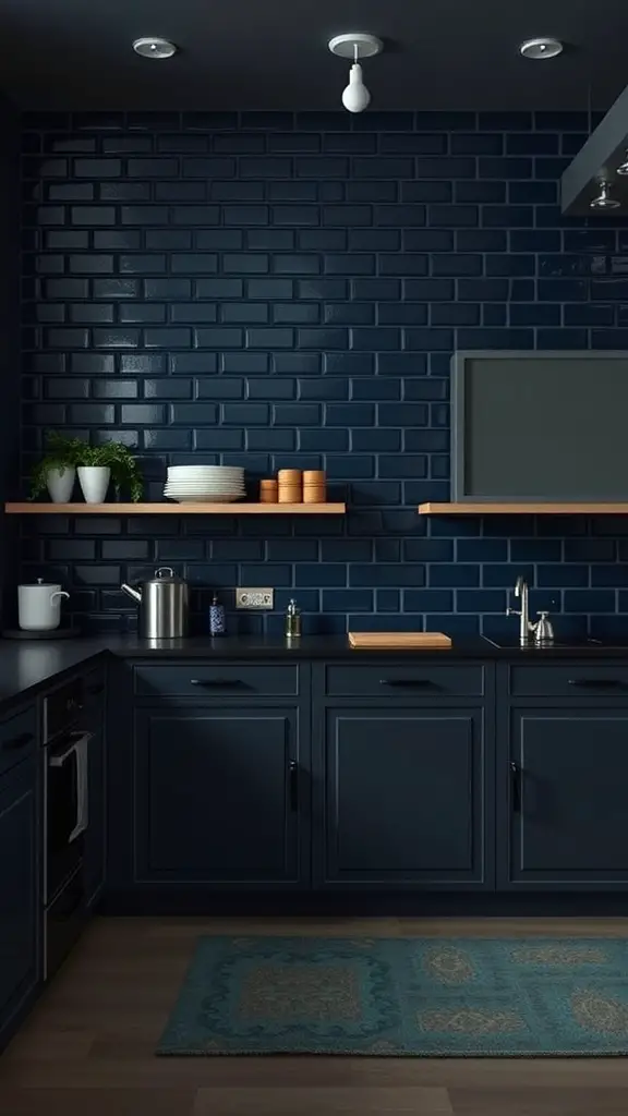
M 360 654 L 360 652 L 356 652 Z M 382 662 L 330 664 L 325 667 L 325 693 L 331 698 L 441 698 L 484 693 L 483 666 L 408 665 Z

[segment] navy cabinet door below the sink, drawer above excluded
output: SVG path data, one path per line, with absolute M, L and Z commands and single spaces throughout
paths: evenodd
M 628 886 L 628 709 L 512 709 L 503 886 Z

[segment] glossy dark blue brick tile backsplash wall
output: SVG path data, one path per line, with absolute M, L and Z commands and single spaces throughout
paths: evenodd
M 169 562 L 232 631 L 512 631 L 518 573 L 565 634 L 622 629 L 628 520 L 426 519 L 449 496 L 456 348 L 628 348 L 628 231 L 565 219 L 580 113 L 31 114 L 22 129 L 22 481 L 48 427 L 168 463 L 244 464 L 251 496 L 323 468 L 340 518 L 22 525 L 22 574 L 92 629 Z M 18 494 L 17 492 L 15 493 Z M 232 613 L 236 585 L 276 610 Z M 616 614 L 616 615 L 611 615 Z

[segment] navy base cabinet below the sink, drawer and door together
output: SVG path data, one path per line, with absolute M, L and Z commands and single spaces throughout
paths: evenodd
M 501 671 L 497 886 L 627 889 L 625 664 Z

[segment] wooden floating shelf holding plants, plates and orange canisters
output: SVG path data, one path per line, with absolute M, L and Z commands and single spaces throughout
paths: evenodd
M 6 503 L 8 516 L 344 516 L 344 503 Z

